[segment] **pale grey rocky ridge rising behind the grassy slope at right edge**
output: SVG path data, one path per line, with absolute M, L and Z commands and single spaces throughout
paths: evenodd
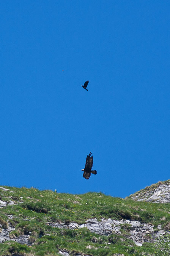
M 129 197 L 136 201 L 170 203 L 170 180 L 159 181 Z

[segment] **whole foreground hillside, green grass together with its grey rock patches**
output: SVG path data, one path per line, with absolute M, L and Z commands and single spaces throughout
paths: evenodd
M 0 187 L 0 256 L 164 256 L 169 229 L 168 203 Z

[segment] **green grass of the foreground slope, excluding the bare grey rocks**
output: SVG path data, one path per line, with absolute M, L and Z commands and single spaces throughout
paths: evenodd
M 0 208 L 0 224 L 2 228 L 8 228 L 8 225 L 15 227 L 10 233 L 10 238 L 30 234 L 31 245 L 6 241 L 0 244 L 0 256 L 60 255 L 58 251 L 64 248 L 72 256 L 76 255 L 76 252 L 93 256 L 112 256 L 116 253 L 125 256 L 169 255 L 165 254 L 166 251 L 164 254 L 159 254 L 159 246 L 162 246 L 164 241 L 159 242 L 158 247 L 153 243 L 136 246 L 128 238 L 128 226 L 122 227 L 121 235 L 104 236 L 92 233 L 87 228 L 69 230 L 54 228 L 47 224 L 47 222 L 83 224 L 89 218 L 98 220 L 111 218 L 151 223 L 155 229 L 160 224 L 167 230 L 170 223 L 168 203 L 135 202 L 102 193 L 72 195 L 35 188 L 8 186 L 5 188 L 9 190 L 0 189 L 0 200 L 7 203 L 14 201 L 14 204 Z M 164 247 L 166 246 L 168 245 L 165 244 Z

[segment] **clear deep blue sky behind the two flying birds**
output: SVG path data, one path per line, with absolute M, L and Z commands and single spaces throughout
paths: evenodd
M 169 0 L 6 0 L 0 23 L 1 185 L 126 197 L 170 179 Z

